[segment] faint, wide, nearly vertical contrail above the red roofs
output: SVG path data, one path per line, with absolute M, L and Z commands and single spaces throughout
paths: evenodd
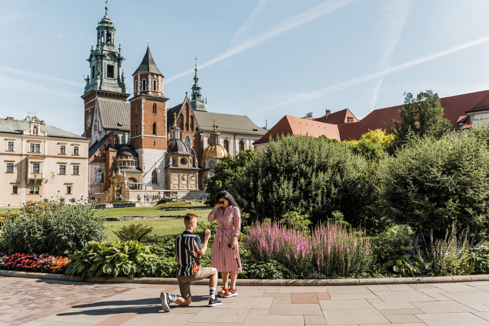
M 382 10 L 379 13 L 380 20 L 377 20 L 376 29 L 379 34 L 384 35 L 380 43 L 385 50 L 379 63 L 378 70 L 387 69 L 392 62 L 392 55 L 399 43 L 402 29 L 406 24 L 407 15 L 411 8 L 411 0 L 387 0 L 381 3 Z M 375 108 L 380 85 L 384 81 L 385 75 L 380 77 L 374 86 L 374 92 L 370 101 L 370 110 Z

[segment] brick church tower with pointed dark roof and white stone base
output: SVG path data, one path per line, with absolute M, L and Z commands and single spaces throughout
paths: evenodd
M 131 147 L 139 155 L 148 189 L 165 189 L 166 101 L 163 74 L 148 46 L 141 64 L 133 73 L 134 95 L 131 103 Z

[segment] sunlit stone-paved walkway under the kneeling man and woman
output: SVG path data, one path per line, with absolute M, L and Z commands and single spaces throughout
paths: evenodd
M 246 286 L 207 307 L 161 310 L 176 285 L 93 284 L 0 277 L 0 326 L 489 326 L 489 282 L 356 286 Z

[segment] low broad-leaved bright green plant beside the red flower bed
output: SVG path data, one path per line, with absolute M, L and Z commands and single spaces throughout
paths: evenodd
M 80 274 L 83 280 L 102 275 L 133 278 L 141 270 L 141 263 L 153 257 L 148 247 L 134 241 L 90 241 L 69 256 L 66 274 Z

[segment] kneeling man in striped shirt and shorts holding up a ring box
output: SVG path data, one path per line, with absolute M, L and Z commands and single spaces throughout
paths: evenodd
M 209 280 L 209 306 L 214 307 L 221 304 L 216 298 L 217 270 L 213 267 L 200 267 L 197 261 L 202 261 L 200 257 L 205 255 L 207 242 L 211 237 L 210 231 L 205 231 L 204 244 L 200 244 L 200 237 L 194 234 L 197 227 L 197 215 L 188 213 L 183 217 L 185 231 L 175 240 L 175 261 L 178 263 L 177 281 L 180 287 L 180 294 L 170 294 L 161 292 L 161 308 L 166 312 L 170 311 L 170 303 L 179 305 L 189 305 L 192 302 L 190 293 L 190 283 L 206 278 Z

